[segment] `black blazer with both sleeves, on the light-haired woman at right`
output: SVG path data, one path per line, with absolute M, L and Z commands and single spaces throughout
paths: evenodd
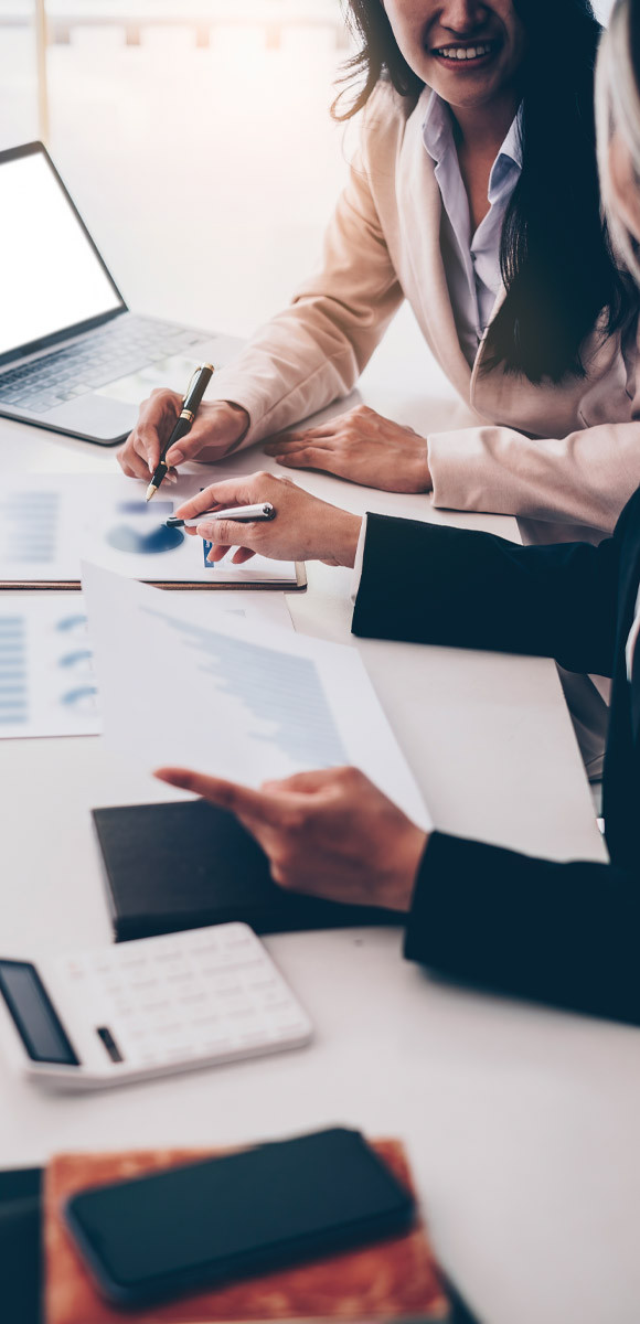
M 394 567 L 413 567 L 403 591 Z M 611 865 L 553 863 L 433 833 L 404 955 L 451 978 L 640 1025 L 640 489 L 613 536 L 518 547 L 368 515 L 355 634 L 557 658 L 613 678 L 604 761 Z

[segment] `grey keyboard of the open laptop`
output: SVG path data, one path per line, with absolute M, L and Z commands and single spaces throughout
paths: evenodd
M 139 372 L 159 359 L 186 354 L 204 339 L 172 322 L 129 315 L 83 340 L 0 375 L 0 406 L 48 413 L 56 405 Z

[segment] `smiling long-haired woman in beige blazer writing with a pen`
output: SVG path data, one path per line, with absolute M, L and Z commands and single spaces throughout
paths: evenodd
M 522 516 L 527 540 L 575 536 L 570 526 L 602 536 L 640 482 L 640 395 L 637 295 L 600 221 L 591 5 L 351 0 L 351 12 L 362 143 L 323 266 L 216 376 L 168 458 L 217 458 L 347 395 L 407 298 L 476 426 L 417 437 L 355 410 L 272 451 Z M 159 392 L 142 406 L 127 474 L 155 467 L 179 405 Z

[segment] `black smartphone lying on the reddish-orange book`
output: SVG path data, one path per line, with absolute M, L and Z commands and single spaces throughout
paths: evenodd
M 338 1127 L 83 1190 L 64 1215 L 98 1291 L 135 1307 L 391 1237 L 415 1201 Z

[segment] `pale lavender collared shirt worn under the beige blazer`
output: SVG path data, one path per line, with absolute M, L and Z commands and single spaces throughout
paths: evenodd
M 521 111 L 492 166 L 489 211 L 472 236 L 466 189 L 453 138 L 452 113 L 432 93 L 423 124 L 424 146 L 436 163 L 435 176 L 443 199 L 440 248 L 461 350 L 473 367 L 478 344 L 490 322 L 502 287 L 500 244 L 505 213 L 522 171 Z

